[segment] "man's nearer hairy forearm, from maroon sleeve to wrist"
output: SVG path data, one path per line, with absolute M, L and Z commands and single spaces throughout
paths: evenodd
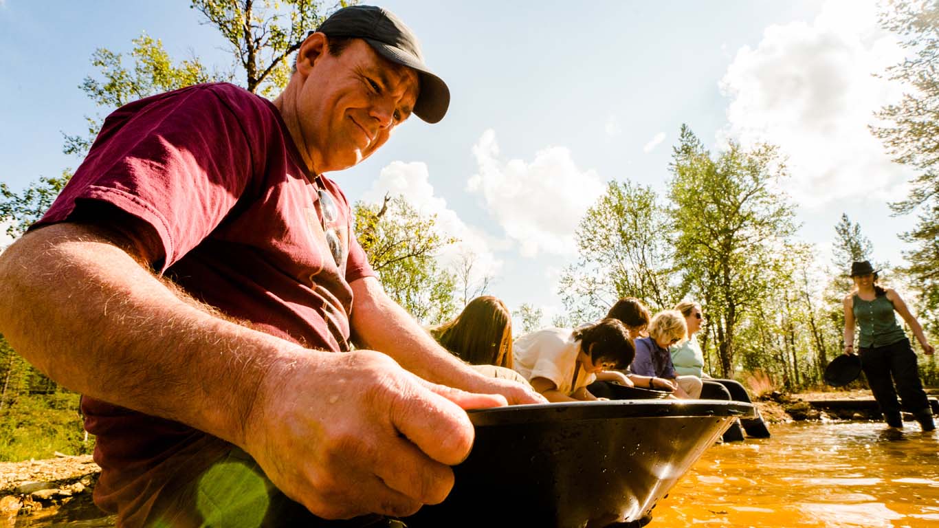
M 108 233 L 51 225 L 0 255 L 0 332 L 69 389 L 242 443 L 273 365 L 300 346 L 225 320 Z

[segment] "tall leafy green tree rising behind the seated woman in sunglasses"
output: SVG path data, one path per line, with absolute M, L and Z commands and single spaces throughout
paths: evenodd
M 670 171 L 675 267 L 684 290 L 705 307 L 721 375 L 728 376 L 738 325 L 761 313 L 795 230 L 793 206 L 778 185 L 787 174 L 777 148 L 731 142 L 712 159 L 685 125 Z

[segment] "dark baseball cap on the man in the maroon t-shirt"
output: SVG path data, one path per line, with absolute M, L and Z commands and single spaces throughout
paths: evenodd
M 418 72 L 421 92 L 414 115 L 436 123 L 450 106 L 450 88 L 423 62 L 417 37 L 393 12 L 375 6 L 349 6 L 332 13 L 316 28 L 327 37 L 363 39 L 377 54 Z

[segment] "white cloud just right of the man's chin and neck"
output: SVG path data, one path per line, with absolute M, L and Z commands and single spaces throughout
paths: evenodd
M 439 262 L 443 266 L 456 265 L 463 255 L 472 255 L 471 282 L 482 279 L 484 274 L 498 275 L 502 261 L 493 255 L 492 247 L 498 246 L 500 241 L 491 241 L 485 233 L 467 225 L 454 210 L 447 207 L 445 199 L 434 195 L 426 163 L 390 163 L 381 169 L 378 179 L 362 195 L 362 199 L 369 203 L 380 203 L 386 193 L 393 196 L 403 194 L 408 203 L 423 215 L 436 214 L 440 230 L 460 240 L 441 251 Z

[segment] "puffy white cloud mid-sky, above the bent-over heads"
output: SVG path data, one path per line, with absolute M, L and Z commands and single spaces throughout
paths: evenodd
M 576 254 L 577 223 L 604 191 L 593 170 L 578 169 L 562 147 L 540 150 L 531 162 L 503 162 L 492 130 L 483 132 L 472 151 L 479 172 L 467 190 L 482 197 L 505 234 L 520 244 L 522 256 Z

